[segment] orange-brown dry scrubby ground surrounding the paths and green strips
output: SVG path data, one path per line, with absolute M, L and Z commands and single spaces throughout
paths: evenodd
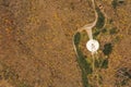
M 96 3 L 111 23 L 98 35 L 100 49 L 115 42 L 104 87 L 130 87 L 131 1 Z M 83 87 L 72 37 L 94 18 L 91 0 L 0 0 L 0 87 Z M 116 85 L 126 72 L 126 85 Z

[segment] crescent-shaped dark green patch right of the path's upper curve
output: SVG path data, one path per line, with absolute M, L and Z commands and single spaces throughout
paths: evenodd
M 100 29 L 105 25 L 105 16 L 98 8 L 96 8 L 96 12 L 98 14 L 98 21 L 96 23 L 96 28 Z

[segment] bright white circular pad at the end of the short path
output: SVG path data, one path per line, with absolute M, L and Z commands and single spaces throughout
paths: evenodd
M 86 48 L 87 48 L 88 51 L 94 53 L 94 52 L 96 52 L 98 50 L 99 44 L 98 44 L 97 40 L 91 39 L 91 40 L 87 41 Z

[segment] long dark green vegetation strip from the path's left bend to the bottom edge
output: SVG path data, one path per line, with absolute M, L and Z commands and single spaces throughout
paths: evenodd
M 74 35 L 73 40 L 74 40 L 74 45 L 78 52 L 78 62 L 79 62 L 80 69 L 82 70 L 83 87 L 91 87 L 88 84 L 87 75 L 92 74 L 93 71 L 92 71 L 91 64 L 85 59 L 86 57 L 82 53 L 81 49 L 79 48 L 80 39 L 81 39 L 81 35 L 80 33 L 76 33 Z

